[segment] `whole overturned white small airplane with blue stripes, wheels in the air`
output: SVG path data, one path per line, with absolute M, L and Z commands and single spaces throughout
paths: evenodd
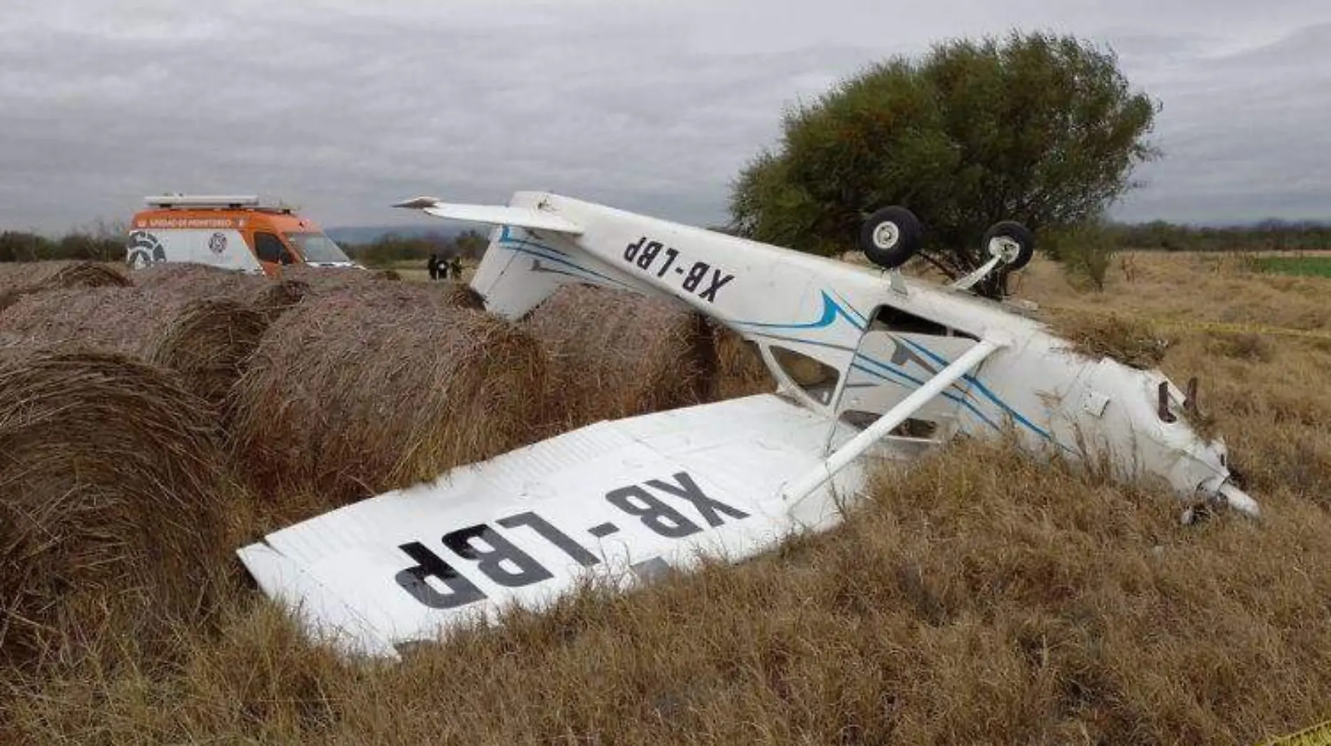
M 1223 441 L 1187 424 L 1191 386 L 1082 355 L 970 290 L 1030 261 L 1018 223 L 990 229 L 988 263 L 941 286 L 900 273 L 921 227 L 896 206 L 862 225 L 873 266 L 543 191 L 395 206 L 494 226 L 471 282 L 491 312 L 520 318 L 566 283 L 673 298 L 752 342 L 779 387 L 595 423 L 238 551 L 266 594 L 346 652 L 397 657 L 588 577 L 623 586 L 701 557 L 743 560 L 840 521 L 874 460 L 962 434 L 1013 434 L 1033 453 L 1258 513 Z

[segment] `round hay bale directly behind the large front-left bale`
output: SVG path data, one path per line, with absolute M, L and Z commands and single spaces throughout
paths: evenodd
M 0 331 L 11 335 L 158 363 L 216 408 L 269 323 L 269 314 L 240 301 L 166 287 L 56 290 L 0 312 Z

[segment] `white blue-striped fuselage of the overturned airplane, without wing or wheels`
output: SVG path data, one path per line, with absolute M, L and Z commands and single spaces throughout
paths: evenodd
M 510 206 L 580 233 L 495 227 L 473 279 L 494 312 L 519 318 L 570 282 L 675 298 L 756 343 L 781 391 L 831 418 L 882 414 L 980 339 L 998 339 L 912 418 L 932 439 L 1012 428 L 1032 449 L 1109 456 L 1119 477 L 1153 473 L 1187 496 L 1229 479 L 1223 444 L 1194 434 L 1183 392 L 1162 374 L 1073 352 L 1001 303 L 550 193 L 519 191 Z M 808 358 L 827 366 L 816 384 L 800 374 Z M 1173 422 L 1159 415 L 1161 383 Z

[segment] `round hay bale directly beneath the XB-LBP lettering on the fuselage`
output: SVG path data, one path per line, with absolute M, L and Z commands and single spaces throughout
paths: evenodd
M 560 287 L 523 320 L 551 363 L 559 431 L 707 402 L 716 350 L 705 318 L 671 301 L 584 285 Z

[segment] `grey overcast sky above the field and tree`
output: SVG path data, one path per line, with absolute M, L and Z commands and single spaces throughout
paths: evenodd
M 519 189 L 717 223 L 783 106 L 1010 28 L 1106 43 L 1161 101 L 1118 217 L 1331 217 L 1327 0 L 0 0 L 0 229 L 176 190 L 325 226 Z

